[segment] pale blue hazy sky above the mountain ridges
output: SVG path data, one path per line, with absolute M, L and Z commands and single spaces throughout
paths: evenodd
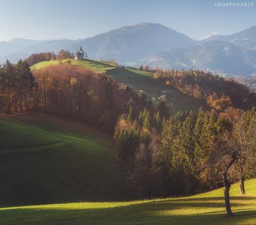
M 75 40 L 138 23 L 196 40 L 233 34 L 256 25 L 256 0 L 0 0 L 0 40 Z

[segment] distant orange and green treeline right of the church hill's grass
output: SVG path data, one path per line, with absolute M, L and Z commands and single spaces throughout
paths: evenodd
M 256 101 L 255 95 L 241 83 L 203 71 L 159 70 L 154 77 L 162 79 L 186 95 L 206 102 L 209 107 L 219 112 L 228 107 L 248 110 Z

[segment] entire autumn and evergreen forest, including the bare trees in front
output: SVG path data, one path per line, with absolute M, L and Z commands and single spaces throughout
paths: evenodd
M 30 59 L 38 62 L 39 56 Z M 203 71 L 151 70 L 151 82 L 181 92 L 192 104 L 208 104 L 208 110 L 170 113 L 163 90 L 153 102 L 143 90 L 114 80 L 112 69 L 106 75 L 59 63 L 31 71 L 29 64 L 1 66 L 0 113 L 56 115 L 110 134 L 130 198 L 184 196 L 224 186 L 227 214 L 232 214 L 230 185 L 240 181 L 243 194 L 245 179 L 256 172 L 256 101 L 246 86 Z M 115 68 L 120 74 L 114 76 L 126 70 L 150 71 Z M 136 76 L 145 76 L 142 72 Z

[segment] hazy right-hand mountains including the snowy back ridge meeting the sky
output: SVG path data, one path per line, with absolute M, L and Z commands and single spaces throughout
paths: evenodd
M 218 74 L 256 74 L 256 26 L 231 35 L 215 34 L 196 45 L 167 49 L 146 58 L 151 66 L 200 69 Z

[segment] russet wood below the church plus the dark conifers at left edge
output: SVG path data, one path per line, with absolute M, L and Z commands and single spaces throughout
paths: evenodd
M 73 65 L 33 73 L 25 61 L 0 67 L 0 113 L 41 110 L 113 131 L 126 104 L 132 102 L 139 111 L 146 106 L 143 98 L 109 77 Z

